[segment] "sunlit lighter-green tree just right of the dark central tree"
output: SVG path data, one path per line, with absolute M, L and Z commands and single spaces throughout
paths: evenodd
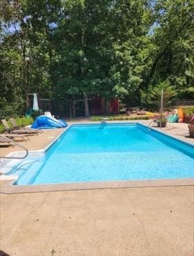
M 139 89 L 142 83 L 142 56 L 146 34 L 152 22 L 148 1 L 115 1 L 113 46 L 115 61 L 111 69 L 114 91 L 123 98 Z

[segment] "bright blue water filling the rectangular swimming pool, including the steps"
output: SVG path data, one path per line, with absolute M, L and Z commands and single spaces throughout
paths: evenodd
M 23 160 L 15 185 L 191 178 L 193 151 L 139 123 L 73 125 L 44 157 Z

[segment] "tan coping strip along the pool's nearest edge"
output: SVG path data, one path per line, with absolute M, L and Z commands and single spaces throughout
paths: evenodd
M 124 181 L 103 181 L 103 182 L 77 182 L 60 183 L 50 185 L 23 185 L 11 186 L 6 182 L 0 186 L 1 194 L 22 194 L 22 193 L 40 193 L 51 191 L 71 191 L 71 190 L 89 190 L 89 189 L 122 189 L 122 188 L 140 188 L 140 187 L 180 187 L 193 186 L 193 178 L 160 179 L 160 180 L 124 180 Z

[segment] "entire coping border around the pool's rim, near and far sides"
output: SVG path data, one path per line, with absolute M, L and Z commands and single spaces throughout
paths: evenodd
M 57 140 L 66 133 L 66 131 L 73 125 L 87 125 L 87 124 L 99 124 L 101 122 L 95 121 L 87 121 L 84 123 L 73 122 L 70 123 L 69 126 L 64 128 L 64 130 L 57 135 L 57 137 L 46 146 L 46 148 L 41 148 L 36 151 L 29 151 L 29 153 L 45 153 Z M 162 130 L 156 130 L 155 128 L 150 128 L 146 126 L 144 123 L 140 123 L 139 121 L 108 121 L 107 123 L 117 124 L 117 123 L 137 123 L 145 128 L 149 128 L 151 130 L 156 131 L 157 133 L 162 133 L 162 135 L 166 135 L 167 137 L 171 137 L 179 142 L 183 142 L 184 144 L 188 144 L 189 146 L 193 146 L 193 144 L 185 142 L 182 139 L 177 139 L 173 137 L 173 135 L 168 135 L 164 133 Z M 12 153 L 8 153 L 6 156 L 11 156 L 16 153 L 23 153 L 23 151 L 15 151 Z M 6 174 L 6 173 L 3 173 Z M 10 177 L 11 178 L 11 177 Z M 73 183 L 57 183 L 57 184 L 45 184 L 45 185 L 19 185 L 15 186 L 13 183 L 15 182 L 16 177 L 13 177 L 10 180 L 0 180 L 4 184 L 0 184 L 0 193 L 1 194 L 19 194 L 19 193 L 35 193 L 35 192 L 48 192 L 48 191 L 70 191 L 70 190 L 83 190 L 83 189 L 119 189 L 119 188 L 135 188 L 135 187 L 172 187 L 172 186 L 193 186 L 194 178 L 176 178 L 176 179 L 157 179 L 157 180 L 111 180 L 111 181 L 102 181 L 102 182 L 73 182 Z

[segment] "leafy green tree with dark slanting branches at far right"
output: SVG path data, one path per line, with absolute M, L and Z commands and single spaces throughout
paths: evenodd
M 142 88 L 168 78 L 182 96 L 194 85 L 194 1 L 157 0 L 153 12 L 155 28 L 148 35 Z

